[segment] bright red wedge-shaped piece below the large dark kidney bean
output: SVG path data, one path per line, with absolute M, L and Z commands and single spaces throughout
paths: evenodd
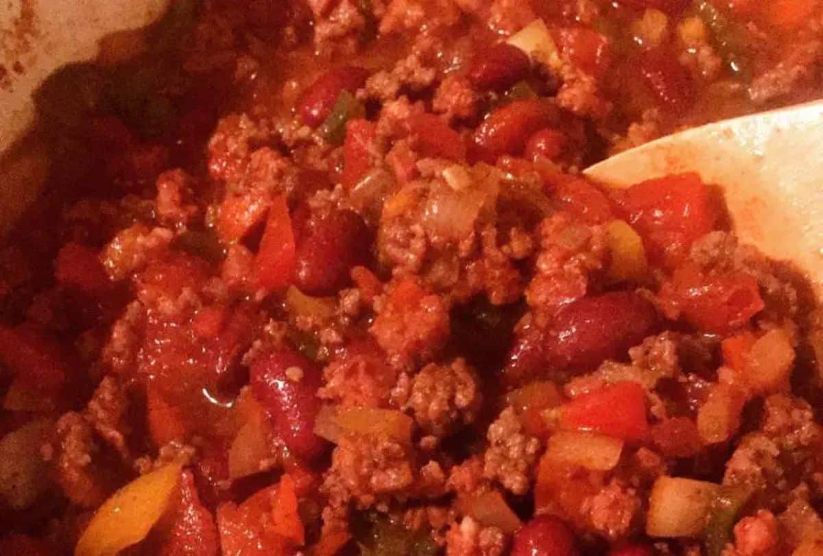
M 616 382 L 560 407 L 560 426 L 640 442 L 649 430 L 646 392 L 637 382 Z

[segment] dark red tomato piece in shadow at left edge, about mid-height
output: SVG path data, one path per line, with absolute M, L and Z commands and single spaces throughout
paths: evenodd
M 69 364 L 59 345 L 30 327 L 0 324 L 0 363 L 16 380 L 39 392 L 58 392 L 69 377 Z

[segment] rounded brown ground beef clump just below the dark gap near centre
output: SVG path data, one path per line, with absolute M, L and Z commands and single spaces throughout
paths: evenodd
M 472 423 L 480 405 L 477 372 L 462 358 L 422 368 L 406 402 L 421 429 L 440 437 Z

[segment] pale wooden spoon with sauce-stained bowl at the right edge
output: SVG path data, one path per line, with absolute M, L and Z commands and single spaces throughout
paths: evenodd
M 790 263 L 823 299 L 823 101 L 675 133 L 584 174 L 625 188 L 683 172 L 717 184 L 742 243 Z

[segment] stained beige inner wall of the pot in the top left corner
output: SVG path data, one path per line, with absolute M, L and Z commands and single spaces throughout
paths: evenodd
M 35 200 L 48 172 L 46 151 L 28 132 L 40 83 L 67 63 L 97 58 L 101 44 L 118 34 L 156 21 L 168 2 L 0 2 L 0 234 Z

